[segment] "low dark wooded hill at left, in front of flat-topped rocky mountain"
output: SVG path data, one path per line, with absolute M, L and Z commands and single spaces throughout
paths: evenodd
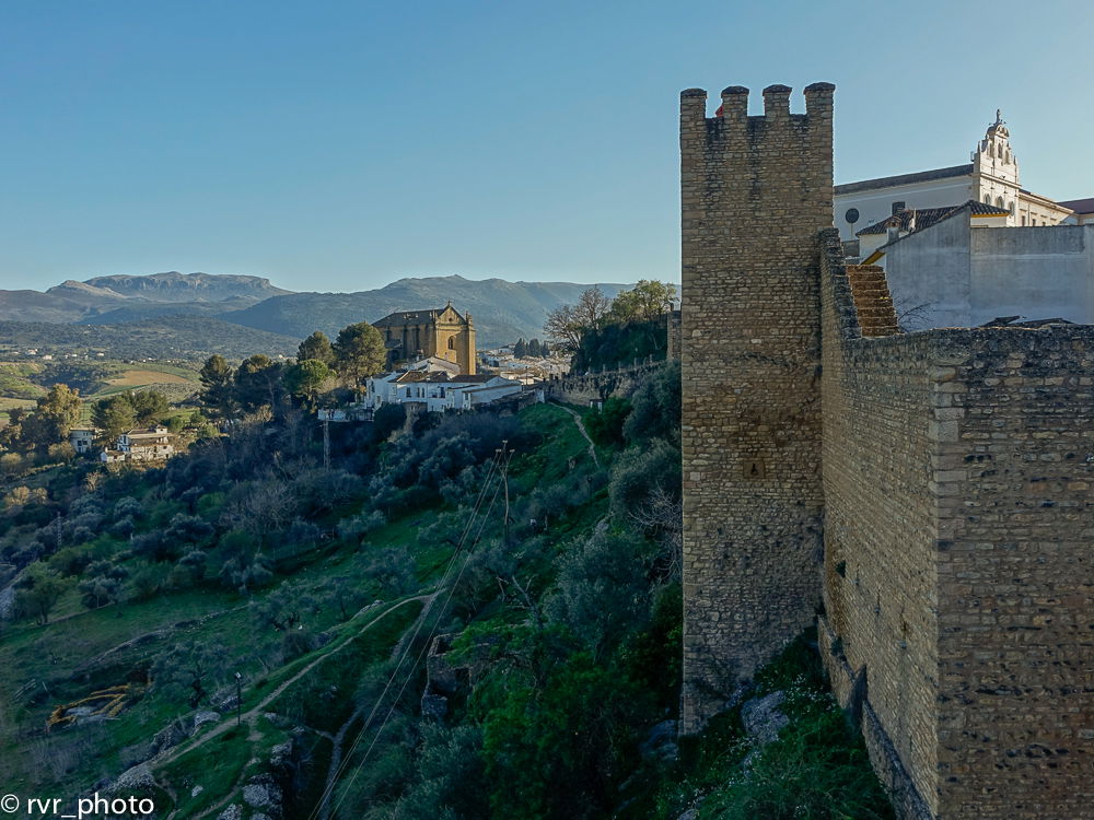
M 164 316 L 123 325 L 0 321 L 0 354 L 36 348 L 45 353 L 103 353 L 106 359 L 201 360 L 213 353 L 294 355 L 299 339 L 200 316 Z

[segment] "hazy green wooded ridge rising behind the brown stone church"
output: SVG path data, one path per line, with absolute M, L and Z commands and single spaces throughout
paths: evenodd
M 238 325 L 303 338 L 313 330 L 333 336 L 356 321 L 376 321 L 395 311 L 444 307 L 449 300 L 472 314 L 476 342 L 490 348 L 524 337 L 543 338 L 547 312 L 577 302 L 590 284 L 469 280 L 459 276 L 399 279 L 374 291 L 293 293 L 220 315 Z M 598 284 L 613 297 L 626 284 Z

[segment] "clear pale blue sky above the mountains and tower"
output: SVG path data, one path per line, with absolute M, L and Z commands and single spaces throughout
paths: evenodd
M 678 93 L 829 81 L 836 179 L 1094 196 L 1090 2 L 0 3 L 0 288 L 678 278 Z

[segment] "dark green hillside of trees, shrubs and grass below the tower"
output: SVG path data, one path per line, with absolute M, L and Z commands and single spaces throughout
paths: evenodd
M 206 363 L 209 409 L 253 411 L 230 435 L 9 493 L 13 792 L 78 794 L 148 762 L 135 793 L 178 817 L 244 788 L 280 792 L 286 817 L 675 818 L 698 797 L 712 818 L 887 817 L 801 646 L 757 678 L 792 723 L 748 773 L 736 713 L 676 761 L 643 751 L 679 700 L 678 367 L 581 411 L 598 464 L 565 408 L 393 406 L 330 425 L 324 467 L 288 399 L 314 400 L 290 375 L 323 364 L 312 352 Z M 100 407 L 142 402 L 162 410 Z M 72 712 L 100 702 L 110 719 Z

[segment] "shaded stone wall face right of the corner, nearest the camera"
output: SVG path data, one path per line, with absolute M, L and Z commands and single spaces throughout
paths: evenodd
M 1094 327 L 932 336 L 940 813 L 1094 818 Z

